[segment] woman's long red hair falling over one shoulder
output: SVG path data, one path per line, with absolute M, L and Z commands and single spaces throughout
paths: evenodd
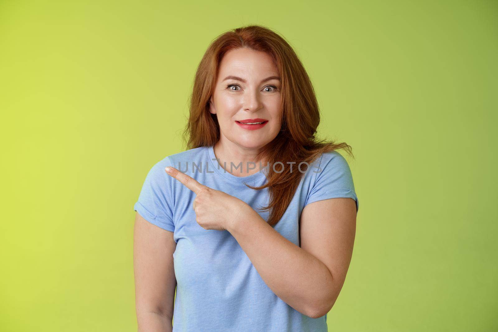
M 320 112 L 315 91 L 299 57 L 279 34 L 262 25 L 236 28 L 218 36 L 209 45 L 195 74 L 190 98 L 190 116 L 184 130 L 187 149 L 214 145 L 220 139 L 220 126 L 216 114 L 209 112 L 209 100 L 217 82 L 221 59 L 230 50 L 246 47 L 269 54 L 281 79 L 282 127 L 264 151 L 265 163 L 270 167 L 263 186 L 268 187 L 270 202 L 260 211 L 270 211 L 267 223 L 274 226 L 289 206 L 304 173 L 284 167 L 281 173 L 272 165 L 279 161 L 313 163 L 322 153 L 337 149 L 346 150 L 353 158 L 351 146 L 315 137 L 320 123 Z M 303 164 L 303 166 L 306 164 Z M 295 169 L 294 167 L 294 169 Z M 281 166 L 275 166 L 280 171 Z M 301 170 L 304 172 L 303 167 Z

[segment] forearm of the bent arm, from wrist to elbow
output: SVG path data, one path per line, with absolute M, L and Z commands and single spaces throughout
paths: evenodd
M 229 228 L 263 281 L 282 301 L 314 318 L 332 307 L 337 298 L 333 278 L 318 258 L 287 240 L 255 211 Z

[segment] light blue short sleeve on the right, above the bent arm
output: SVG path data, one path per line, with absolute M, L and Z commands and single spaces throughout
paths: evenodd
M 329 198 L 344 197 L 355 200 L 356 211 L 358 212 L 359 202 L 351 169 L 346 159 L 339 152 L 325 152 L 321 157 L 319 168 L 314 167 L 311 170 L 318 173 L 304 206 Z

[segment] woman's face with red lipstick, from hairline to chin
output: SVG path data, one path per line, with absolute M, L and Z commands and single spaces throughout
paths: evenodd
M 220 141 L 244 148 L 271 142 L 281 127 L 280 87 L 278 70 L 265 52 L 247 48 L 227 52 L 210 100 L 210 112 L 220 124 Z

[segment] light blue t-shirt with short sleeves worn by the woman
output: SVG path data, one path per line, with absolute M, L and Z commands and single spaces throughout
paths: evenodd
M 177 281 L 173 332 L 326 332 L 327 315 L 313 319 L 280 300 L 266 286 L 229 231 L 204 229 L 197 223 L 192 208 L 195 193 L 169 176 L 164 171 L 166 166 L 173 166 L 205 186 L 243 200 L 266 221 L 269 211 L 260 212 L 256 208 L 266 206 L 269 196 L 267 188 L 257 191 L 244 184 L 263 185 L 266 182 L 264 168 L 244 177 L 230 174 L 225 171 L 230 170 L 230 165 L 221 167 L 216 160 L 213 146 L 176 153 L 152 166 L 133 209 L 145 220 L 173 232 Z M 297 171 L 298 163 L 292 166 L 292 171 Z M 277 164 L 275 170 L 278 172 L 281 167 Z M 260 169 L 257 164 L 256 169 Z M 301 170 L 305 169 L 303 164 Z M 285 214 L 273 228 L 299 246 L 303 208 L 309 203 L 336 197 L 354 199 L 358 211 L 349 165 L 340 153 L 332 151 L 323 153 L 310 164 Z

